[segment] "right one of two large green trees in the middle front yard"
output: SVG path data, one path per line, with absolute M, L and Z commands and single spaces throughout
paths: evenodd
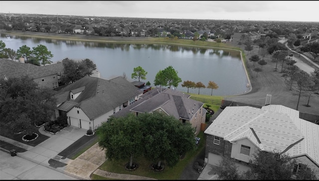
M 157 162 L 166 161 L 172 167 L 180 159 L 180 155 L 194 150 L 194 129 L 189 122 L 182 123 L 173 116 L 154 111 L 137 116 L 143 123 L 144 155 Z

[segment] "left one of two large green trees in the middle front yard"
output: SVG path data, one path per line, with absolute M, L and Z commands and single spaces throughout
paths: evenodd
M 130 168 L 133 157 L 143 154 L 143 122 L 130 113 L 125 117 L 110 117 L 99 127 L 99 146 L 105 150 L 106 158 L 110 160 L 130 158 Z

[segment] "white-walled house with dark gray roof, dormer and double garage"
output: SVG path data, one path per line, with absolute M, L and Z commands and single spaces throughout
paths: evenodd
M 111 80 L 86 76 L 56 92 L 55 118 L 66 116 L 71 126 L 95 130 L 142 94 L 121 76 Z

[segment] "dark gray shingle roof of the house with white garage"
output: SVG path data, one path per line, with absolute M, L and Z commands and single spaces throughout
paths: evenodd
M 84 90 L 83 87 L 85 87 Z M 70 99 L 69 92 L 79 89 L 82 90 L 80 95 L 74 100 Z M 140 93 L 134 85 L 123 77 L 104 80 L 86 76 L 58 90 L 55 96 L 58 98 L 57 104 L 65 101 L 77 103 L 76 106 L 81 108 L 92 120 L 113 110 L 113 108 L 129 101 Z M 70 110 L 70 107 L 68 109 Z

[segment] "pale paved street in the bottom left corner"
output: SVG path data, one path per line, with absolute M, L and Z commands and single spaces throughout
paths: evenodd
M 0 150 L 0 180 L 78 180 Z

